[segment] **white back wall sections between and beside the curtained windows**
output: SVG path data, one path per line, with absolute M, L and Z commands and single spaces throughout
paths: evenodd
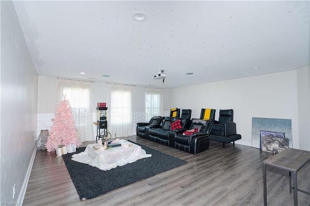
M 51 118 L 54 118 L 57 100 L 57 81 L 56 77 L 39 76 L 38 81 L 38 115 L 37 115 L 37 135 L 41 130 L 48 129 L 52 126 Z M 109 112 L 109 84 L 106 82 L 90 82 L 91 93 L 91 111 L 93 113 L 93 121 L 96 121 L 96 107 L 99 102 L 106 102 Z M 134 86 L 132 101 L 133 101 L 133 134 L 136 133 L 136 122 L 149 121 L 145 119 L 144 107 L 145 87 Z M 164 111 L 169 111 L 170 92 L 169 89 L 163 89 Z M 170 114 L 170 113 L 169 113 Z M 94 139 L 96 135 L 96 127 L 94 126 Z M 109 129 L 109 119 L 108 119 Z M 113 132 L 112 132 L 113 133 Z

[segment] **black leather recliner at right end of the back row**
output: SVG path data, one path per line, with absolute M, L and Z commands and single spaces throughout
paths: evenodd
M 236 123 L 233 122 L 233 109 L 219 110 L 218 121 L 214 120 L 214 125 L 210 133 L 210 140 L 230 143 L 241 139 L 241 135 L 236 132 Z

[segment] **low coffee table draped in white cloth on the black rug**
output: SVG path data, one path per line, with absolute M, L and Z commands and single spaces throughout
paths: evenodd
M 102 144 L 88 145 L 84 152 L 72 155 L 72 160 L 89 164 L 100 170 L 110 170 L 152 156 L 146 154 L 145 150 L 140 146 L 126 140 L 120 140 L 119 143 L 122 144 L 121 147 L 112 147 L 108 150 L 100 150 Z

